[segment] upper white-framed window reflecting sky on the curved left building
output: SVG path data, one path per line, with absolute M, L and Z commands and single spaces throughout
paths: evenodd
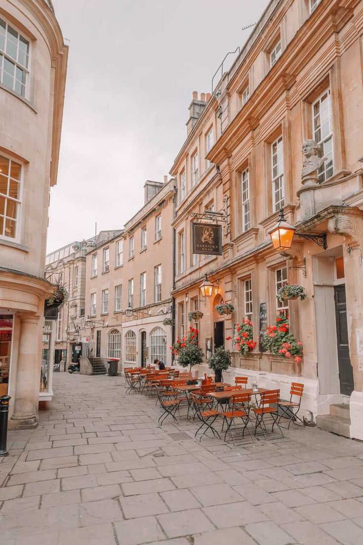
M 0 82 L 25 98 L 28 77 L 29 41 L 0 19 Z

